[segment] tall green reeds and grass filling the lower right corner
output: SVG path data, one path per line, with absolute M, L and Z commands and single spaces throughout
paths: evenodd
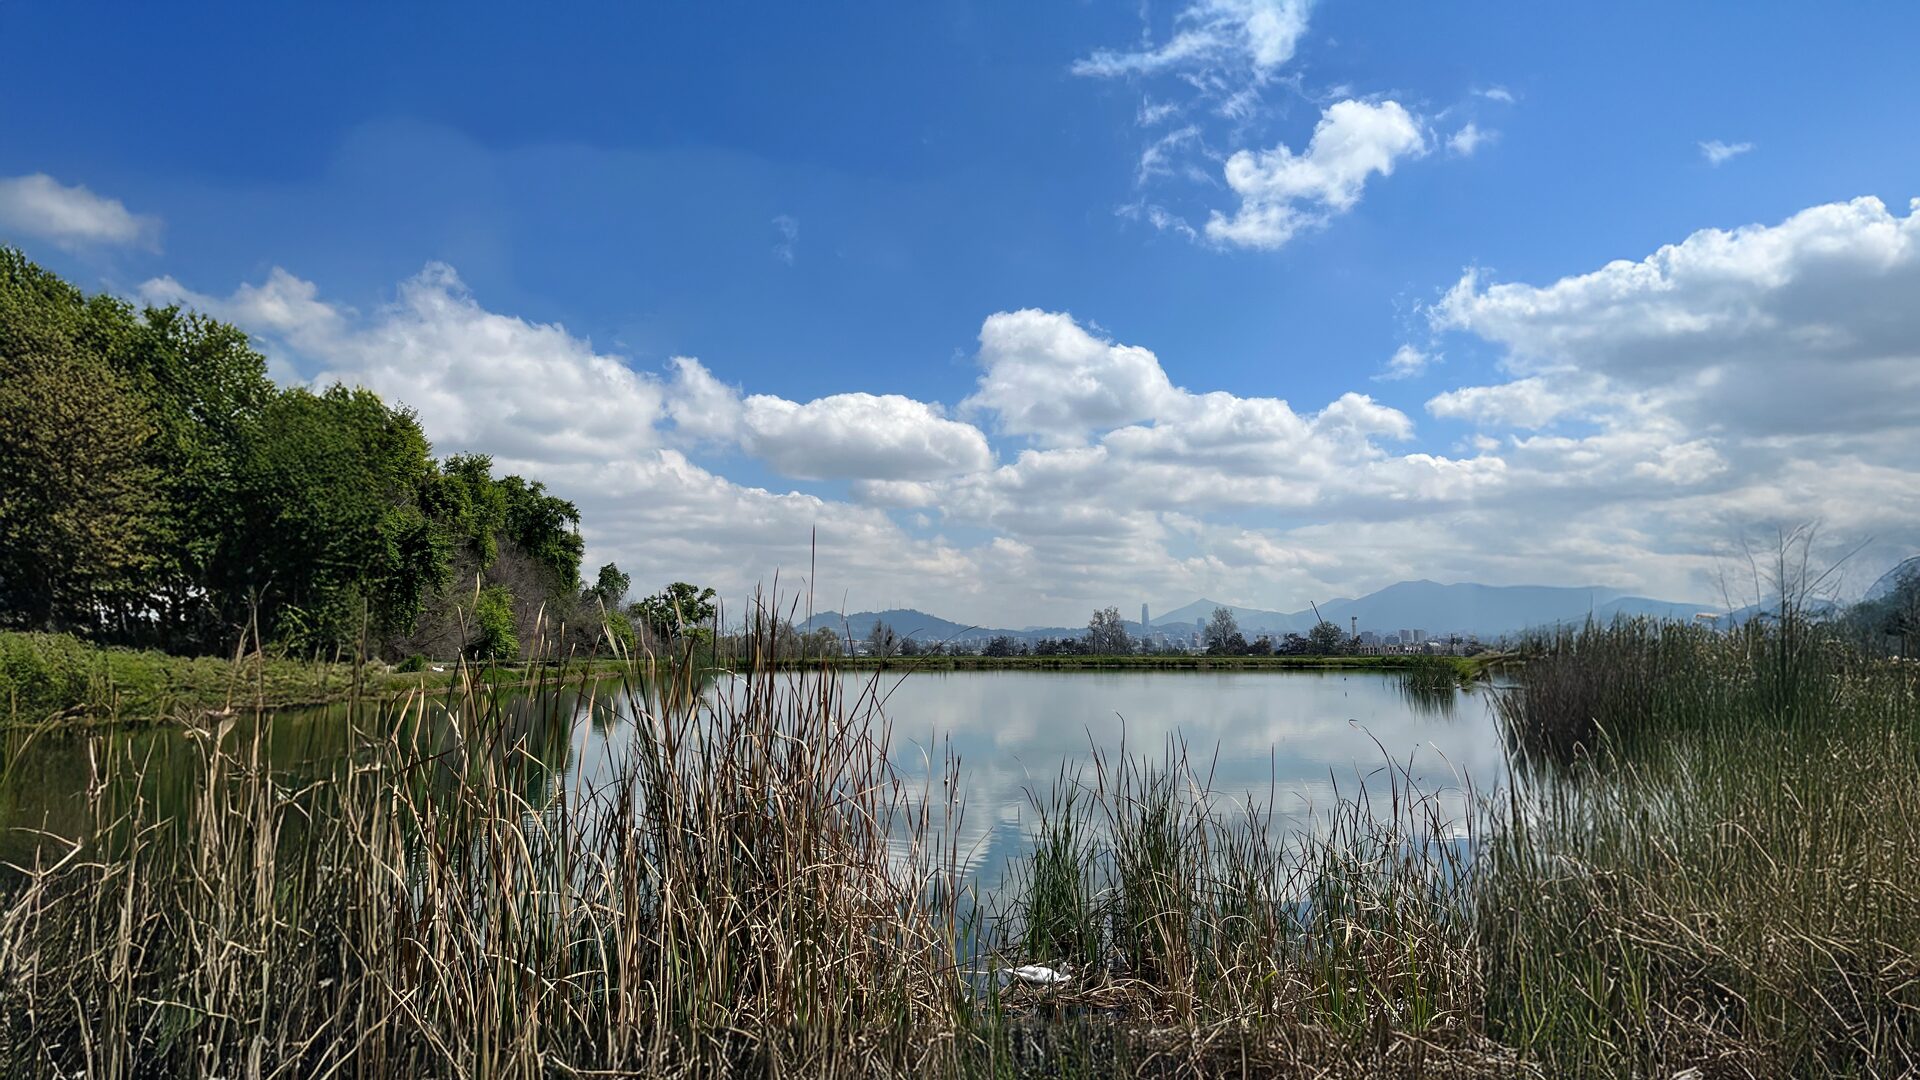
M 1920 1067 L 1920 669 L 1809 623 L 1532 642 L 1534 780 L 1475 919 L 1488 1030 L 1567 1074 Z

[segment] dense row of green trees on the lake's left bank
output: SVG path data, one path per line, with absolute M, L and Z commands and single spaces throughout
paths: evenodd
M 276 386 L 227 323 L 86 296 L 0 250 L 0 625 L 515 653 L 541 605 L 601 630 L 582 607 L 611 582 L 582 590 L 578 527 L 486 455 L 436 459 L 371 390 Z

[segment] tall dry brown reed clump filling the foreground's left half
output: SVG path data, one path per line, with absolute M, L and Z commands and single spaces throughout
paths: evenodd
M 184 803 L 98 736 L 92 828 L 0 892 L 15 1074 L 900 1074 L 952 1055 L 950 884 L 831 678 L 701 698 L 636 661 L 611 776 L 572 713 L 378 709 L 319 776 L 196 730 Z M 651 680 L 641 686 L 641 680 Z M 636 705 L 645 701 L 645 705 Z M 372 734 L 380 732 L 380 734 Z M 553 753 L 545 740 L 561 740 Z M 929 899 L 933 897 L 933 899 Z

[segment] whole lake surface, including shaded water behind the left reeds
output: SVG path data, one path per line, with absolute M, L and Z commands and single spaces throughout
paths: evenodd
M 1407 694 L 1396 675 L 1275 671 L 962 671 L 849 673 L 849 700 L 872 696 L 893 728 L 891 757 L 910 780 L 958 757 L 964 813 L 954 822 L 964 863 L 979 884 L 996 884 L 1027 842 L 1029 792 L 1062 778 L 1092 782 L 1092 757 L 1121 751 L 1162 761 L 1183 746 L 1198 780 L 1219 799 L 1271 798 L 1283 824 L 1311 828 L 1315 809 L 1363 784 L 1384 794 L 1405 771 L 1465 819 L 1469 784 L 1490 792 L 1505 780 L 1505 753 L 1484 690 Z M 724 686 L 716 688 L 724 692 Z M 574 696 L 509 703 L 534 738 L 543 782 L 564 778 L 572 799 L 593 798 L 616 773 L 630 730 Z M 428 711 L 430 715 L 430 711 Z M 275 769 L 315 771 L 348 753 L 346 709 L 288 709 L 261 728 Z M 242 721 L 228 738 L 250 738 Z M 417 738 L 438 742 L 432 724 Z M 109 749 L 111 748 L 111 749 Z M 428 746 L 432 749 L 432 746 Z M 86 788 L 106 753 L 157 765 L 148 771 L 159 805 L 184 805 L 198 780 L 198 751 L 177 728 L 100 736 L 40 736 L 8 749 L 0 780 L 0 859 L 21 861 L 35 838 L 81 834 Z

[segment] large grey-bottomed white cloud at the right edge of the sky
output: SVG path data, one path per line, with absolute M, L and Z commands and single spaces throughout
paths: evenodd
M 1697 427 L 1903 429 L 1920 423 L 1916 206 L 1868 196 L 1701 229 L 1542 286 L 1467 273 L 1432 319 L 1496 342 L 1515 373 L 1601 377 Z

